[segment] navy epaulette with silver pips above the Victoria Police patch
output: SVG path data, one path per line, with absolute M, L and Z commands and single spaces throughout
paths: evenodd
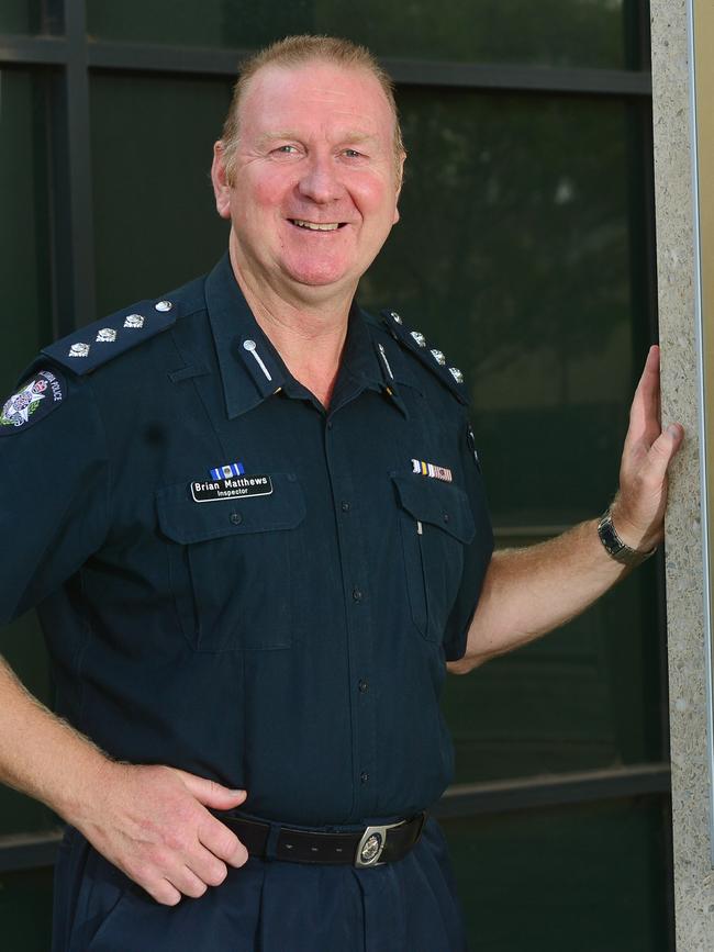
M 87 324 L 42 348 L 42 354 L 78 376 L 91 373 L 176 323 L 179 305 L 172 301 L 141 301 L 109 317 Z

